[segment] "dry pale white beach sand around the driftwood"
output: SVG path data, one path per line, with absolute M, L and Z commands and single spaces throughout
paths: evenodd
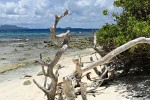
M 89 53 L 90 52 L 90 53 Z M 72 73 L 75 69 L 75 65 L 72 62 L 72 58 L 81 54 L 83 62 L 88 62 L 94 50 L 86 49 L 77 51 L 67 56 L 63 56 L 59 64 L 65 66 L 65 68 L 59 71 L 59 81 L 62 80 L 64 76 Z M 44 80 L 43 76 L 37 76 L 37 73 L 41 71 L 39 65 L 23 67 L 15 70 L 11 70 L 0 74 L 0 100 L 46 100 L 43 92 L 36 87 L 32 82 L 36 79 L 42 84 Z M 67 72 L 67 73 L 66 73 Z M 25 77 L 26 75 L 31 77 Z M 29 85 L 23 85 L 25 81 L 30 81 Z M 83 81 L 87 81 L 85 78 Z M 88 83 L 88 82 L 87 82 Z M 108 88 L 100 87 L 98 92 L 93 94 L 88 94 L 88 100 L 127 100 L 122 94 L 125 89 L 117 85 L 111 85 Z M 13 99 L 12 99 L 13 98 Z M 76 100 L 82 100 L 81 96 L 78 96 Z

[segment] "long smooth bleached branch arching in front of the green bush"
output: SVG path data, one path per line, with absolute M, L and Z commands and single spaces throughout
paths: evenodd
M 82 73 L 89 71 L 99 65 L 104 65 L 106 63 L 109 63 L 109 61 L 117 56 L 118 54 L 124 52 L 125 50 L 131 48 L 132 46 L 136 45 L 136 44 L 140 44 L 140 43 L 148 43 L 150 44 L 150 38 L 145 38 L 145 37 L 140 37 L 134 40 L 131 40 L 127 43 L 125 43 L 124 45 L 116 48 L 115 50 L 111 51 L 110 53 L 108 53 L 106 56 L 102 57 L 101 59 L 99 59 L 96 62 L 93 62 L 92 64 L 89 64 L 86 66 L 85 69 L 82 70 Z

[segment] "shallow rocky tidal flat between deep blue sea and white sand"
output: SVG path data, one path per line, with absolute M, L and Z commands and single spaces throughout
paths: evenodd
M 78 47 L 82 49 L 91 47 L 90 38 L 72 38 L 71 40 L 64 57 L 80 54 L 80 51 L 83 53 L 82 50 L 77 49 Z M 39 58 L 40 53 L 43 58 L 52 59 L 59 48 L 52 47 L 44 41 L 47 39 L 0 42 L 0 73 L 31 65 Z M 75 51 L 79 52 L 75 53 Z

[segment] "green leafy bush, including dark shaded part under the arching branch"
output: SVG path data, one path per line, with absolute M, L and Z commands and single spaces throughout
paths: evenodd
M 116 0 L 114 5 L 123 8 L 120 15 L 112 13 L 116 24 L 107 23 L 96 34 L 97 43 L 103 46 L 105 52 L 108 53 L 138 37 L 150 38 L 150 0 Z M 107 15 L 106 12 L 107 10 L 103 11 L 104 15 Z M 147 44 L 135 45 L 119 56 L 121 56 L 119 60 L 124 64 L 133 62 L 133 59 L 138 56 L 145 57 L 143 59 L 148 59 L 147 62 L 149 62 L 150 46 Z M 136 61 L 138 62 L 137 59 Z

